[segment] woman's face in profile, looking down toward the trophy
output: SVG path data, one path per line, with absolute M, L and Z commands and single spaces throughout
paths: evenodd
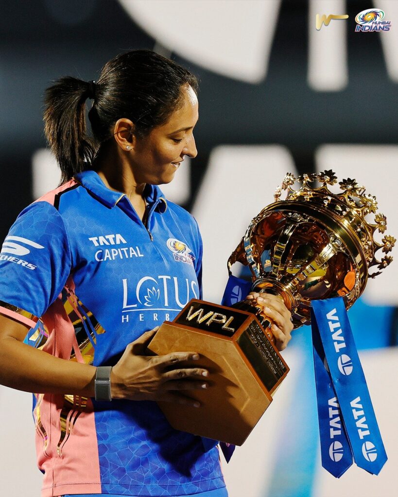
M 198 155 L 193 134 L 198 119 L 198 98 L 191 86 L 185 86 L 183 106 L 168 122 L 144 139 L 134 137 L 131 167 L 138 183 L 169 183 L 177 169 L 184 167 L 184 155 Z

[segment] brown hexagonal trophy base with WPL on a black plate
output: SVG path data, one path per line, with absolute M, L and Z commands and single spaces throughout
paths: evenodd
M 256 316 L 195 299 L 160 327 L 148 348 L 200 354 L 209 388 L 184 393 L 201 407 L 158 404 L 173 428 L 234 445 L 246 440 L 289 371 Z

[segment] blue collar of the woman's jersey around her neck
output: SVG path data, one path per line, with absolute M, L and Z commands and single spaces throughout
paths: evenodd
M 88 190 L 97 200 L 106 207 L 112 208 L 124 196 L 124 193 L 107 188 L 96 171 L 88 170 L 79 172 L 74 176 L 75 180 Z M 164 212 L 167 208 L 166 199 L 157 185 L 147 184 L 144 195 L 148 205 L 156 204 L 156 210 Z

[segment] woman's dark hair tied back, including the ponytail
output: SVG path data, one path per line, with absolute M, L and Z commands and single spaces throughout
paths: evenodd
M 61 168 L 62 182 L 89 169 L 100 144 L 111 138 L 111 126 L 130 119 L 138 137 L 165 124 L 182 104 L 182 86 L 198 94 L 198 80 L 190 71 L 150 50 L 132 50 L 107 62 L 93 85 L 72 77 L 55 81 L 45 90 L 44 133 Z M 95 90 L 93 91 L 93 88 Z M 93 137 L 86 131 L 86 99 Z

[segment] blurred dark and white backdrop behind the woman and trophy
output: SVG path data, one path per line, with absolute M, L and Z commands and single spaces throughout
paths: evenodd
M 355 32 L 355 16 L 371 7 L 390 31 Z M 316 13 L 349 18 L 316 30 Z M 287 171 L 356 178 L 397 237 L 398 1 L 0 0 L 0 241 L 59 183 L 43 134 L 45 88 L 66 75 L 97 80 L 107 60 L 143 48 L 200 79 L 198 157 L 162 189 L 199 222 L 206 300 L 221 300 L 227 257 Z M 321 468 L 310 330 L 301 328 L 275 402 L 223 462 L 230 497 L 397 495 L 397 277 L 398 261 L 349 311 L 389 456 L 380 475 L 354 465 L 335 480 Z M 0 387 L 0 405 L 1 495 L 39 496 L 31 395 Z

